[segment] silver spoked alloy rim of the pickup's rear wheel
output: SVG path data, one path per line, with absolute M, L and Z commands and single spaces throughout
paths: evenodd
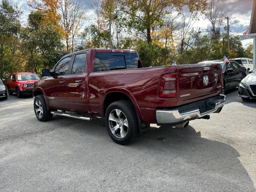
M 128 132 L 128 120 L 119 109 L 114 109 L 108 116 L 108 124 L 112 134 L 117 138 L 124 138 Z

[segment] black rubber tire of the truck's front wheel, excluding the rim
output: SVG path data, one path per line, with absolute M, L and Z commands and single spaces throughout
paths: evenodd
M 41 108 L 42 108 L 42 116 L 39 116 L 38 113 L 36 112 L 36 102 L 40 101 L 41 103 Z M 34 98 L 34 112 L 36 115 L 36 118 L 40 121 L 48 121 L 52 119 L 52 114 L 50 113 L 50 111 L 48 110 L 48 107 L 46 105 L 46 102 L 44 100 L 44 96 L 43 95 L 37 95 Z

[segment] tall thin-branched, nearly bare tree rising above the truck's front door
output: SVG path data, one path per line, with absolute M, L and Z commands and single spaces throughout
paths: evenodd
M 60 3 L 61 24 L 64 30 L 67 51 L 74 51 L 74 38 L 85 20 L 85 10 L 80 0 L 62 0 Z M 71 44 L 71 47 L 70 47 Z

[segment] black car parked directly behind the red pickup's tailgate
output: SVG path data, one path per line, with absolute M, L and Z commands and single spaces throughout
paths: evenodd
M 223 70 L 223 89 L 222 94 L 225 93 L 226 90 L 230 90 L 239 86 L 241 80 L 246 77 L 246 68 L 240 66 L 235 61 L 202 61 L 199 64 L 207 64 L 207 63 L 215 63 L 221 64 Z

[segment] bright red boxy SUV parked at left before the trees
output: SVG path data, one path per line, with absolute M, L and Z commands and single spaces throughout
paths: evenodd
M 15 92 L 18 98 L 22 95 L 31 95 L 34 82 L 39 79 L 34 73 L 11 73 L 7 80 L 8 94 L 12 95 Z

